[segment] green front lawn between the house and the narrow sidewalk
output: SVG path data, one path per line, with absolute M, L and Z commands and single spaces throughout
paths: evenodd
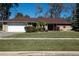
M 79 32 L 34 32 L 8 36 L 12 38 L 79 38 Z

